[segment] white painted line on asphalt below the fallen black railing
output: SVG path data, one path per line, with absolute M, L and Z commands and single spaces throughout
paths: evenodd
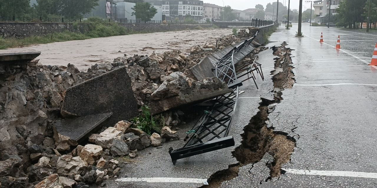
M 207 179 L 179 178 L 179 177 L 124 177 L 116 179 L 117 182 L 148 182 L 148 183 L 207 183 Z M 208 185 L 205 184 L 205 185 Z

